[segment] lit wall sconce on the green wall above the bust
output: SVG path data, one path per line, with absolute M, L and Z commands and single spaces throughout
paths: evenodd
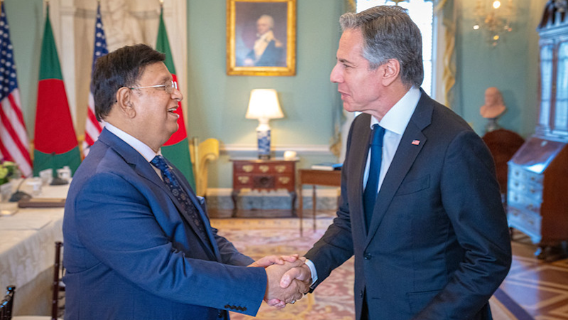
M 503 33 L 513 30 L 510 26 L 512 13 L 513 0 L 477 0 L 474 30 L 487 31 L 491 46 L 497 46 Z

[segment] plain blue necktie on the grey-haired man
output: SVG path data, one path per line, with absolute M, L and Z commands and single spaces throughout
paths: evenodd
M 381 161 L 383 158 L 383 137 L 385 129 L 378 124 L 373 125 L 371 132 L 373 139 L 371 140 L 371 164 L 368 168 L 367 185 L 363 193 L 363 210 L 365 212 L 365 225 L 367 232 L 371 217 L 373 216 L 373 208 L 377 199 L 378 175 L 381 173 Z

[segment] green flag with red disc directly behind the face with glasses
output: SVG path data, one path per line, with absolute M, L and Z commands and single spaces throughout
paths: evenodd
M 172 73 L 173 80 L 178 81 L 178 77 L 175 75 L 175 66 L 173 64 L 172 51 L 170 50 L 170 41 L 168 41 L 168 33 L 165 31 L 163 8 L 160 11 L 160 26 L 158 27 L 158 41 L 156 41 L 155 49 L 165 53 L 165 66 L 168 67 L 170 73 Z M 180 85 L 178 84 L 178 87 Z M 175 113 L 179 114 L 177 132 L 172 134 L 172 137 L 165 142 L 162 146 L 162 154 L 170 162 L 182 171 L 187 181 L 190 182 L 191 187 L 195 190 L 195 176 L 193 175 L 193 169 L 191 165 L 190 156 L 190 142 L 187 139 L 187 132 L 185 131 L 185 121 L 183 119 L 182 102 L 178 102 L 178 109 Z M 200 195 L 204 196 L 204 195 Z

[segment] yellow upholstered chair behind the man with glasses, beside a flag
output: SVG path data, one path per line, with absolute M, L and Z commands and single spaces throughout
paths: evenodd
M 219 159 L 219 140 L 209 138 L 204 142 L 193 138 L 190 143 L 191 162 L 195 175 L 195 193 L 206 196 L 209 162 Z

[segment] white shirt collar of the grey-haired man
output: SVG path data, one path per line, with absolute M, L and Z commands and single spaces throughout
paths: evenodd
M 413 116 L 414 110 L 420 100 L 420 89 L 411 87 L 406 94 L 393 105 L 391 110 L 385 114 L 381 122 L 376 117 L 371 117 L 371 129 L 373 124 L 380 124 L 381 127 L 395 134 L 403 135 L 410 117 Z

